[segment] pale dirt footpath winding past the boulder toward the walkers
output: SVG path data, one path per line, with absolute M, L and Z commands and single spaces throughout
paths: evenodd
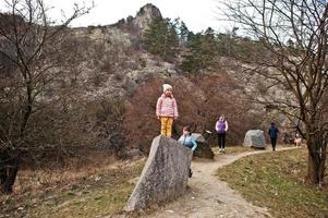
M 280 148 L 290 149 L 290 148 Z M 257 207 L 246 202 L 239 193 L 231 190 L 226 182 L 215 175 L 218 168 L 254 154 L 269 150 L 248 152 L 238 155 L 219 155 L 214 161 L 193 161 L 193 177 L 189 181 L 187 193 L 145 217 L 271 217 L 265 207 Z

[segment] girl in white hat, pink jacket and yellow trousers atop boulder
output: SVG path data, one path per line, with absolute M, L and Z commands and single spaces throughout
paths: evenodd
M 169 84 L 162 85 L 163 93 L 156 105 L 156 116 L 160 120 L 160 134 L 171 137 L 173 120 L 178 118 L 178 106 L 173 97 L 173 88 Z

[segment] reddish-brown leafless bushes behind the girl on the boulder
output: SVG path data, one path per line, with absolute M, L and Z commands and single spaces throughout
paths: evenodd
M 136 88 L 126 104 L 124 132 L 127 146 L 148 153 L 151 140 L 159 134 L 160 123 L 155 116 L 161 85 L 170 83 L 178 102 L 179 119 L 173 124 L 172 137 L 182 134 L 182 128 L 190 125 L 193 132 L 206 134 L 214 132 L 208 140 L 216 143 L 215 123 L 220 114 L 229 122 L 228 145 L 240 145 L 245 132 L 259 128 L 260 114 L 250 112 L 252 106 L 245 104 L 242 88 L 224 72 L 199 77 L 175 77 L 170 80 L 149 80 Z

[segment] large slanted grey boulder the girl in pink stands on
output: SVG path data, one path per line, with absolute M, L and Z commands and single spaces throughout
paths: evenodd
M 191 161 L 190 148 L 162 135 L 155 137 L 142 175 L 124 209 L 143 209 L 181 196 L 186 190 Z

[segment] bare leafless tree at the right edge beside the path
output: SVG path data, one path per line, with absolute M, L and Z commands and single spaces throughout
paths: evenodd
M 321 184 L 328 142 L 328 4 L 321 0 L 239 0 L 224 5 L 228 19 L 253 40 L 247 57 L 239 57 L 245 70 L 265 78 L 268 89 L 284 94 L 257 100 L 295 121 L 307 143 L 306 179 Z

